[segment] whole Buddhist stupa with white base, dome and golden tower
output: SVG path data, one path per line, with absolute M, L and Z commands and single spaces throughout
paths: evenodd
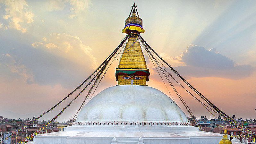
M 145 30 L 136 7 L 123 29 L 129 39 L 115 72 L 118 85 L 93 97 L 72 126 L 37 135 L 30 144 L 219 143 L 222 134 L 199 131 L 171 98 L 147 86 L 150 73 L 138 40 Z

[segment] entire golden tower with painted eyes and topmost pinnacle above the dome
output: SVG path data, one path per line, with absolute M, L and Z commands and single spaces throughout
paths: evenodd
M 138 35 L 144 33 L 145 30 L 142 28 L 142 19 L 139 17 L 135 4 L 132 5 L 132 10 L 129 17 L 125 20 L 124 30 L 122 30 L 123 33 L 129 35 L 129 38 L 118 68 L 116 69 L 115 76 L 118 85 L 146 86 L 146 82 L 149 81 L 149 69 L 147 69 L 138 38 Z

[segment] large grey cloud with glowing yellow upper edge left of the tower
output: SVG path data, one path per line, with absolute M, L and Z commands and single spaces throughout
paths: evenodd
M 93 50 L 76 36 L 51 34 L 39 41 L 29 37 L 29 45 L 13 42 L 16 37 L 0 39 L 5 42 L 0 46 L 0 75 L 6 80 L 73 89 L 98 66 Z

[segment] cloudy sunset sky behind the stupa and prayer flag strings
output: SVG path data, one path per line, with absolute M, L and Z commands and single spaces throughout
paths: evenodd
M 0 115 L 38 116 L 80 85 L 125 37 L 121 30 L 133 2 L 0 0 Z M 158 54 L 226 114 L 255 119 L 256 1 L 135 3 L 145 30 L 141 36 Z M 147 84 L 169 95 L 144 55 Z M 95 94 L 117 84 L 117 66 L 114 61 Z M 200 103 L 175 87 L 197 117 L 210 118 Z M 86 94 L 57 121 L 70 119 Z M 54 117 L 73 97 L 41 120 Z

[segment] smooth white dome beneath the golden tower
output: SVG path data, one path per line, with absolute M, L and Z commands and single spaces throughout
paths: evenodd
M 104 89 L 80 111 L 76 122 L 188 122 L 176 103 L 158 89 L 119 85 Z

